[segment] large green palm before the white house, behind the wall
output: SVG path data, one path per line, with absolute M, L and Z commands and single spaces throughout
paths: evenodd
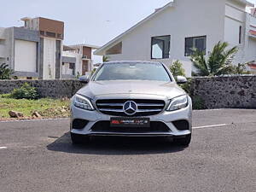
M 232 61 L 237 52 L 237 47 L 227 49 L 226 42 L 218 42 L 206 58 L 205 53 L 194 49 L 190 61 L 195 67 L 194 76 L 218 76 L 230 74 L 233 71 Z M 227 50 L 226 50 L 227 49 Z

